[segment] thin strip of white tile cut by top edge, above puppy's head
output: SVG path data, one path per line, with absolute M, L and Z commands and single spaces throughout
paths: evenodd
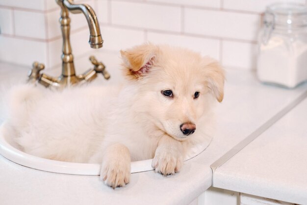
M 174 3 L 180 5 L 220 8 L 221 0 L 147 0 L 149 2 Z

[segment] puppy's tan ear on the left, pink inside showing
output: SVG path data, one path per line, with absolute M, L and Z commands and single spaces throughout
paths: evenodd
M 153 67 L 158 47 L 146 43 L 121 51 L 125 75 L 132 79 L 139 79 L 150 72 Z

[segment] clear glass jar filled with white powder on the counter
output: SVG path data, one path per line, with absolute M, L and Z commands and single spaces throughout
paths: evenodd
M 267 7 L 259 33 L 257 76 L 265 83 L 294 88 L 307 80 L 307 7 Z

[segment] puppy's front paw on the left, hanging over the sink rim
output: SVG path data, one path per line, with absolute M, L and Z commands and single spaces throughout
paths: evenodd
M 103 163 L 100 179 L 113 189 L 125 186 L 130 181 L 130 164 L 116 163 L 114 161 Z

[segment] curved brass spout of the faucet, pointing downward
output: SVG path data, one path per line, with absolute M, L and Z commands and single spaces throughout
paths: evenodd
M 63 0 L 63 5 L 72 13 L 82 12 L 84 14 L 90 29 L 89 43 L 92 48 L 101 48 L 103 43 L 102 35 L 97 16 L 92 7 L 88 4 L 74 4 L 72 0 Z

